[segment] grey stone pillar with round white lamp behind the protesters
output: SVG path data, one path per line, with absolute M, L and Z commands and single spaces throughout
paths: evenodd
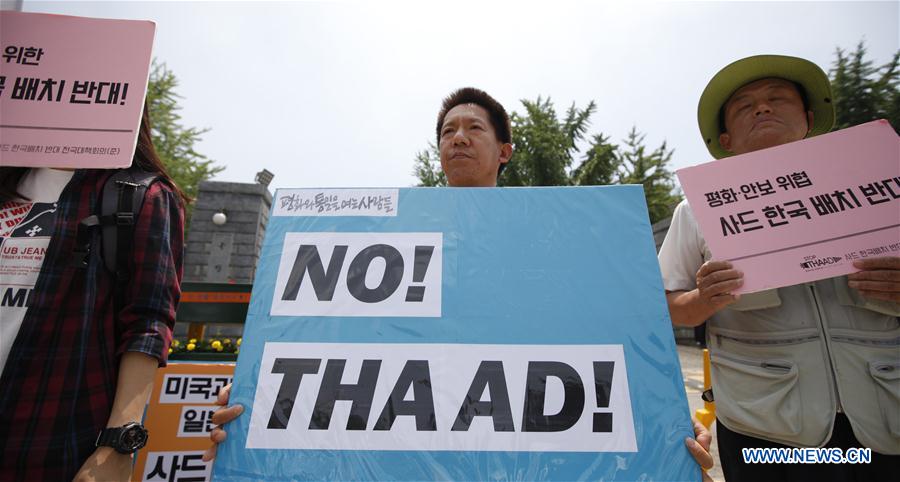
M 185 281 L 253 283 L 272 195 L 259 183 L 200 183 L 185 249 Z M 213 222 L 216 213 L 225 223 Z

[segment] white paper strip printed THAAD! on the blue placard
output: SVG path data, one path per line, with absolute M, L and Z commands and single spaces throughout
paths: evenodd
M 622 345 L 266 343 L 247 448 L 637 452 Z

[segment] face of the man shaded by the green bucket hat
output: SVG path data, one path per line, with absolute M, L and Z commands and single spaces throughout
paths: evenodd
M 719 135 L 719 144 L 734 154 L 803 139 L 813 120 L 797 87 L 777 78 L 738 89 L 725 103 L 724 115 L 725 132 Z

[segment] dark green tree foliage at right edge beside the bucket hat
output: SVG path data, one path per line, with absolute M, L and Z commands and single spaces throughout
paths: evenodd
M 836 49 L 830 72 L 836 111 L 835 130 L 876 119 L 887 119 L 894 130 L 900 129 L 898 62 L 900 50 L 886 64 L 875 66 L 866 59 L 863 42 L 853 52 Z

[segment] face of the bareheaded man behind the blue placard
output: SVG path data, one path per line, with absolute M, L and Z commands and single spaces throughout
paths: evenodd
M 500 164 L 512 155 L 512 145 L 497 140 L 490 115 L 476 104 L 460 104 L 447 112 L 439 147 L 441 168 L 453 187 L 496 186 Z

